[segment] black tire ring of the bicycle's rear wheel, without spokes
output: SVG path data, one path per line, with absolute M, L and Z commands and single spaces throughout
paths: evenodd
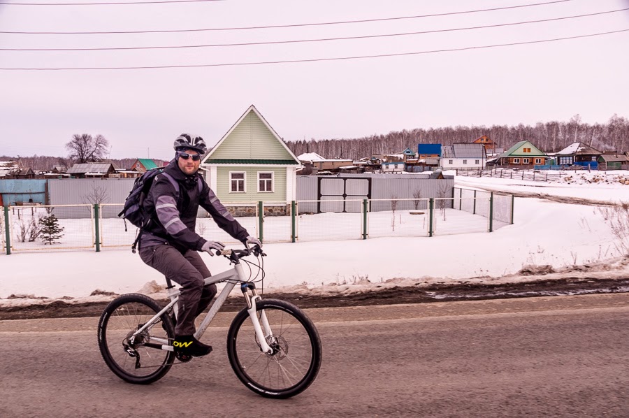
M 157 370 L 155 370 L 154 373 L 151 373 L 150 375 L 146 375 L 143 377 L 138 377 L 138 376 L 130 375 L 129 373 L 126 373 L 123 368 L 118 366 L 117 361 L 113 359 L 113 356 L 111 356 L 109 352 L 109 347 L 107 344 L 107 325 L 109 323 L 111 314 L 117 308 L 120 308 L 120 306 L 124 305 L 125 303 L 142 303 L 146 305 L 148 308 L 154 310 L 155 313 L 159 312 L 163 308 L 159 306 L 159 304 L 156 301 L 154 301 L 154 299 L 143 294 L 124 294 L 122 296 L 115 298 L 113 301 L 111 301 L 106 306 L 105 310 L 103 310 L 103 314 L 101 315 L 101 318 L 99 319 L 98 341 L 99 341 L 99 349 L 101 352 L 101 356 L 103 357 L 103 360 L 107 364 L 108 368 L 110 368 L 110 370 L 115 375 L 117 375 L 118 377 L 120 377 L 122 380 L 126 382 L 133 383 L 133 384 L 150 384 L 152 382 L 156 382 L 157 380 L 161 379 L 161 377 L 164 377 L 164 375 L 168 373 L 168 370 L 171 369 L 171 366 L 173 366 L 173 361 L 175 359 L 174 352 L 171 352 L 171 351 L 167 352 L 166 357 L 164 359 L 164 363 L 161 366 L 159 366 Z M 168 335 L 168 338 L 173 339 L 175 337 L 175 327 L 173 326 L 173 322 L 171 321 L 171 318 L 168 317 L 168 315 L 164 314 L 162 315 L 161 320 L 164 323 L 164 326 L 166 327 L 166 334 Z

